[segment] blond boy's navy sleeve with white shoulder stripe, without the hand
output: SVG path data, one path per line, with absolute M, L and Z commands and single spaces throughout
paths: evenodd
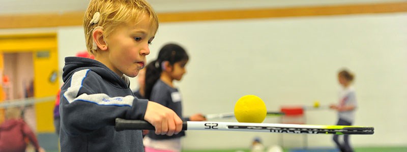
M 143 120 L 148 100 L 133 95 L 110 97 L 100 93 L 98 75 L 90 70 L 75 72 L 61 91 L 61 128 L 71 135 L 90 133 L 114 125 L 115 118 Z M 100 78 L 99 78 L 100 80 Z

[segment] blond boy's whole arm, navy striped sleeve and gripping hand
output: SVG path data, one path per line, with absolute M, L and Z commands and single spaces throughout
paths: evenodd
M 182 120 L 171 109 L 133 95 L 109 97 L 99 93 L 101 84 L 96 81 L 96 74 L 88 72 L 75 72 L 61 91 L 61 128 L 66 133 L 90 133 L 113 126 L 116 118 L 146 120 L 156 127 L 156 134 L 172 135 L 181 131 Z

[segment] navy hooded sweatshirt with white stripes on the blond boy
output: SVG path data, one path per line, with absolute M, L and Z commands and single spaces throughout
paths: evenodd
M 143 120 L 126 76 L 99 61 L 66 57 L 61 88 L 61 151 L 143 151 L 140 130 L 115 131 L 115 118 Z

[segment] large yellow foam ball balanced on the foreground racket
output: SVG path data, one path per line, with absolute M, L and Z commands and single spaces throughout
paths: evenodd
M 261 123 L 266 115 L 266 104 L 255 95 L 245 95 L 235 104 L 235 117 L 238 122 Z

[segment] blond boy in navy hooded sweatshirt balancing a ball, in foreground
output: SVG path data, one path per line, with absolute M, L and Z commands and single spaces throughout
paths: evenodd
M 133 96 L 128 77 L 146 64 L 158 19 L 144 0 L 91 0 L 83 26 L 95 60 L 67 57 L 61 88 L 61 151 L 143 151 L 140 130 L 114 130 L 114 119 L 146 120 L 173 135 L 182 120 L 169 108 Z M 127 76 L 126 76 L 127 75 Z

